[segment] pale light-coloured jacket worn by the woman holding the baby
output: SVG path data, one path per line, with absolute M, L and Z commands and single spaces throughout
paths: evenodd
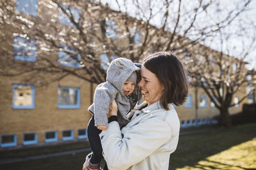
M 100 133 L 109 170 L 168 169 L 180 129 L 179 117 L 172 104 L 168 108 L 170 110 L 164 110 L 159 102 L 142 110 L 139 106 L 134 108 L 131 122 L 122 131 L 117 122 L 111 122 L 108 129 Z

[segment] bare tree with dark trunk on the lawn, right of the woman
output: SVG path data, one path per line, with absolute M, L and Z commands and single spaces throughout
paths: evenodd
M 242 25 L 239 25 L 239 28 L 242 29 L 238 31 L 241 33 L 244 28 Z M 236 49 L 228 42 L 234 41 L 234 38 L 224 35 L 221 31 L 216 34 L 220 34 L 220 39 L 214 38 L 214 43 L 219 43 L 220 51 L 198 46 L 198 50 L 193 51 L 193 57 L 187 59 L 187 64 L 193 85 L 204 89 L 220 111 L 219 124 L 229 127 L 232 121 L 228 109 L 242 103 L 248 96 L 254 96 L 252 94 L 255 91 L 256 74 L 253 69 L 246 69 L 248 62 L 244 60 L 255 50 L 255 35 L 251 34 L 250 38 L 239 38 L 241 35 L 237 34 L 236 39 L 239 39 L 242 45 L 245 44 L 243 41 L 248 45 L 244 45 L 241 53 L 237 53 L 239 57 L 233 57 L 231 53 Z M 255 102 L 255 99 L 252 101 Z

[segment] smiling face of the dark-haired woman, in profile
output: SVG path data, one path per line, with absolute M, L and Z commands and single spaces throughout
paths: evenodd
M 143 99 L 148 102 L 148 105 L 159 101 L 164 90 L 164 86 L 160 83 L 156 74 L 144 66 L 141 67 L 141 81 L 138 86 L 141 87 L 141 94 Z

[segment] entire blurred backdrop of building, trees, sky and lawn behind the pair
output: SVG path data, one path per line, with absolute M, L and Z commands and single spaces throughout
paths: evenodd
M 156 51 L 177 55 L 191 84 L 175 106 L 170 169 L 255 169 L 255 9 L 252 0 L 1 0 L 0 169 L 81 168 L 87 108 L 109 63 Z

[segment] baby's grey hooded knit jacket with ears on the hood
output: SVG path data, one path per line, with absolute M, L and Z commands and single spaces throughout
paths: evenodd
M 109 106 L 115 99 L 118 106 L 118 123 L 127 124 L 129 119 L 127 113 L 138 101 L 138 78 L 140 72 L 139 64 L 134 64 L 131 60 L 117 58 L 112 60 L 107 70 L 106 82 L 100 83 L 93 97 L 93 104 L 88 111 L 94 114 L 95 125 L 108 125 Z M 136 86 L 129 96 L 123 93 L 125 81 L 134 81 Z

